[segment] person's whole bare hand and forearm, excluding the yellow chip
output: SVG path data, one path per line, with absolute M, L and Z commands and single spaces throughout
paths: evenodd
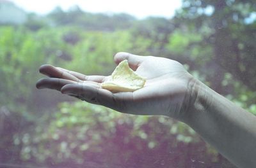
M 133 115 L 164 115 L 192 127 L 237 167 L 256 167 L 256 117 L 214 92 L 189 74 L 179 62 L 120 52 L 116 64 L 128 60 L 137 74 L 147 78 L 134 92 L 112 93 L 100 88 L 109 76 L 87 76 L 44 65 L 49 76 L 36 83 L 93 104 Z

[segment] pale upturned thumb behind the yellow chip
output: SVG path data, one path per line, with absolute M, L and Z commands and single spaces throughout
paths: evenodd
M 116 62 L 116 64 L 119 64 L 122 60 L 125 59 L 128 61 L 128 64 L 131 67 L 131 69 L 135 71 L 138 68 L 138 66 L 140 66 L 141 62 L 145 60 L 145 57 L 140 55 L 133 55 L 131 53 L 126 52 L 118 52 L 114 56 L 114 61 Z

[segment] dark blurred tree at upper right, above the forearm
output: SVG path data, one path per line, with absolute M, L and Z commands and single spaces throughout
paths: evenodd
M 251 90 L 256 88 L 255 8 L 253 1 L 184 0 L 175 17 L 179 26 L 202 34 L 198 45 L 211 45 L 216 64 Z

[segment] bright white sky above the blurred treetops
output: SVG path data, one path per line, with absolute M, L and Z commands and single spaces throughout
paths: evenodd
M 175 10 L 181 6 L 181 0 L 11 0 L 26 11 L 40 14 L 49 13 L 56 6 L 68 10 L 70 6 L 78 5 L 84 11 L 93 13 L 129 13 L 138 18 L 147 16 L 172 17 Z

